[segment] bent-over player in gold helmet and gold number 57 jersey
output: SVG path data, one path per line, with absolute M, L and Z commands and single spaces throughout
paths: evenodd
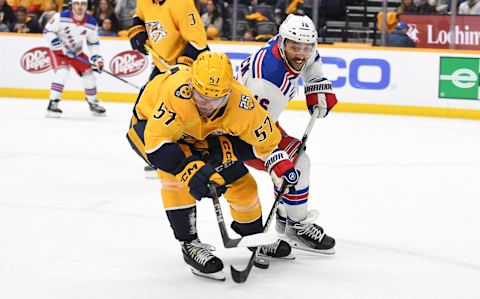
M 201 53 L 191 69 L 179 65 L 156 76 L 145 86 L 133 114 L 127 138 L 159 169 L 163 204 L 185 262 L 197 275 L 224 279 L 222 261 L 198 239 L 196 200 L 211 197 L 208 186 L 213 182 L 230 204 L 232 229 L 242 236 L 261 232 L 257 185 L 237 159 L 235 138 L 253 148 L 273 177 L 294 186 L 299 173 L 277 147 L 280 131 L 252 93 L 233 80 L 228 57 L 209 51 Z M 280 240 L 260 249 L 272 257 L 290 251 Z

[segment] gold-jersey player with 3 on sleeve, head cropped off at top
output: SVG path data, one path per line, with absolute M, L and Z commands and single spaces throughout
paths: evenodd
M 207 35 L 193 0 L 137 0 L 128 38 L 134 50 L 147 55 L 147 44 L 170 65 L 191 65 L 198 54 L 208 50 Z M 167 69 L 157 59 L 154 64 L 149 80 Z M 157 178 L 151 165 L 145 167 L 145 175 Z

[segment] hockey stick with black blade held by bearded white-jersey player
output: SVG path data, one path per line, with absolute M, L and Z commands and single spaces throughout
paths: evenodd
M 312 131 L 313 125 L 315 124 L 315 121 L 317 120 L 317 116 L 320 113 L 320 109 L 317 107 L 312 113 L 312 116 L 310 117 L 310 121 L 308 122 L 307 128 L 305 129 L 305 133 L 303 134 L 302 137 L 302 142 L 300 144 L 300 147 L 298 149 L 298 153 L 296 156 L 295 161 L 293 161 L 294 165 L 297 164 L 298 158 L 300 155 L 304 152 L 305 144 L 307 143 L 308 136 L 310 135 L 310 132 Z M 280 199 L 282 198 L 283 194 L 287 190 L 287 184 L 285 180 L 282 182 L 282 187 L 280 188 L 280 191 L 278 192 L 277 196 L 275 197 L 275 201 L 273 202 L 273 206 L 270 209 L 270 214 L 268 214 L 267 221 L 265 222 L 265 226 L 263 227 L 263 231 L 267 232 L 268 228 L 270 227 L 270 224 L 275 217 L 275 214 L 277 212 L 278 205 L 280 203 Z M 252 252 L 252 255 L 250 256 L 250 260 L 248 261 L 247 267 L 244 270 L 237 270 L 235 267 L 230 265 L 230 272 L 232 273 L 232 279 L 233 281 L 237 283 L 245 282 L 247 281 L 248 275 L 250 274 L 250 270 L 252 270 L 253 263 L 255 259 L 257 258 L 257 251 L 258 247 L 254 249 Z

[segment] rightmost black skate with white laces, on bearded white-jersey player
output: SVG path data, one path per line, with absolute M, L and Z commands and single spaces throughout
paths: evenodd
M 313 223 L 317 217 L 318 212 L 311 210 L 300 222 L 287 219 L 285 238 L 296 249 L 334 254 L 335 239 L 325 234 L 322 227 Z

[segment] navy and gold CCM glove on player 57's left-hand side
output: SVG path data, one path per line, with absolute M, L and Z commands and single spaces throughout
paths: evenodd
M 211 183 L 215 184 L 218 196 L 227 191 L 223 177 L 211 165 L 200 160 L 191 160 L 176 177 L 190 188 L 190 194 L 196 200 L 212 197 L 208 188 Z

